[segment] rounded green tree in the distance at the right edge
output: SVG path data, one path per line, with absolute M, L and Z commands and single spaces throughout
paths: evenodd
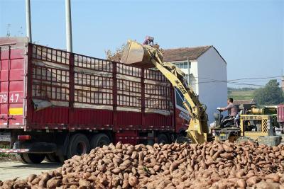
M 283 103 L 283 91 L 279 87 L 277 80 L 271 79 L 266 86 L 256 89 L 254 92 L 254 100 L 259 105 L 277 105 Z

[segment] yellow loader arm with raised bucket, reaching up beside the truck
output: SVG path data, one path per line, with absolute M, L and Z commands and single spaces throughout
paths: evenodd
M 177 88 L 184 96 L 183 105 L 190 114 L 190 125 L 187 129 L 187 137 L 192 143 L 203 143 L 207 141 L 208 126 L 205 108 L 198 100 L 190 86 L 185 85 L 185 74 L 174 64 L 162 61 L 162 53 L 150 45 L 141 45 L 136 41 L 127 42 L 121 62 L 133 64 L 136 67 L 155 67 L 158 69 L 173 87 Z

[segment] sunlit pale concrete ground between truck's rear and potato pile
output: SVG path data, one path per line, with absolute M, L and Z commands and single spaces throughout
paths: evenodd
M 18 161 L 0 162 L 0 181 L 13 179 L 16 177 L 27 178 L 30 174 L 40 174 L 45 171 L 54 170 L 62 166 L 58 163 L 23 164 Z

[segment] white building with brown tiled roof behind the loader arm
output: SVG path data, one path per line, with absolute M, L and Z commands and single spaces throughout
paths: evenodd
M 207 106 L 209 122 L 217 107 L 226 106 L 226 61 L 213 46 L 163 50 L 163 62 L 177 65 L 185 72 L 188 84 Z

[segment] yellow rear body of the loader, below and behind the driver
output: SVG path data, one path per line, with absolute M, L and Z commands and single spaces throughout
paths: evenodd
M 240 115 L 239 127 L 214 129 L 213 134 L 216 140 L 221 141 L 251 140 L 258 144 L 278 145 L 281 136 L 275 132 L 275 128 L 279 127 L 275 113 L 274 107 L 256 108 L 253 105 L 246 114 Z

